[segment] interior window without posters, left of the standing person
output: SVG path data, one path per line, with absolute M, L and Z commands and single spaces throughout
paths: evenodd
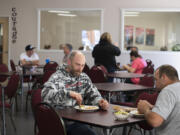
M 59 50 L 70 43 L 73 49 L 93 48 L 101 32 L 102 10 L 39 10 L 39 49 Z

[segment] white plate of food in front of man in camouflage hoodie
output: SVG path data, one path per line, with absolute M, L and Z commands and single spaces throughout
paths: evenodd
M 99 106 L 94 106 L 94 105 L 81 105 L 81 106 L 77 105 L 74 108 L 82 112 L 94 112 L 99 110 Z

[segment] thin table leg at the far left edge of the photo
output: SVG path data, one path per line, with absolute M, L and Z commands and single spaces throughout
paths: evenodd
M 6 119 L 5 119 L 5 105 L 4 105 L 4 88 L 2 90 L 2 135 L 6 135 Z

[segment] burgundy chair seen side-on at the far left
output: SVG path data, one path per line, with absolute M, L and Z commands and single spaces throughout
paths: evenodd
M 12 122 L 13 128 L 16 131 L 16 126 L 13 120 L 12 112 L 13 112 L 13 103 L 15 100 L 16 92 L 19 85 L 19 75 L 13 74 L 9 81 L 7 86 L 4 88 L 4 94 L 5 94 L 5 108 L 9 113 L 10 120 Z M 0 101 L 0 107 L 2 107 L 2 102 Z

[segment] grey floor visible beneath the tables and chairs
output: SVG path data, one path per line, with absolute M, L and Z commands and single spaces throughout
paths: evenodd
M 20 96 L 18 98 L 20 103 Z M 20 107 L 20 106 L 19 106 Z M 28 112 L 25 112 L 25 107 L 23 110 L 14 113 L 14 120 L 16 124 L 17 131 L 15 132 L 8 115 L 6 115 L 6 135 L 34 135 L 34 118 L 29 105 Z M 103 132 L 100 128 L 94 128 L 97 135 L 102 135 Z M 121 135 L 122 128 L 115 129 L 112 135 Z M 137 130 L 132 130 L 131 135 L 141 135 Z M 146 134 L 148 135 L 148 134 Z

